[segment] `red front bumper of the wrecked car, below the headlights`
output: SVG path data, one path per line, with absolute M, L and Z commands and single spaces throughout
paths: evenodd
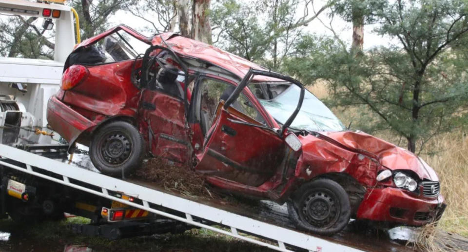
M 393 187 L 368 188 L 356 217 L 422 226 L 440 219 L 445 207 L 441 194 L 435 198 L 424 198 Z

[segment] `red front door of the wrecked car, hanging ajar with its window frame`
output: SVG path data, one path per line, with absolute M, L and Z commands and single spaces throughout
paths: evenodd
M 283 160 L 285 143 L 267 126 L 261 107 L 246 96 L 247 89 L 225 107 L 225 100 L 236 90 L 234 85 L 216 79 L 197 85 L 200 117 L 208 118 L 201 121 L 205 140 L 195 169 L 255 187 L 272 179 Z

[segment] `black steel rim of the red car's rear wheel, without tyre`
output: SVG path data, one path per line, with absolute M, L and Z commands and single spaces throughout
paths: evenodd
M 104 135 L 99 143 L 99 154 L 109 165 L 124 163 L 132 152 L 130 137 L 121 131 L 112 131 Z

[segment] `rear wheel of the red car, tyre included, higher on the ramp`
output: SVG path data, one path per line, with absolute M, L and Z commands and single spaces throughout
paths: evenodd
M 101 173 L 126 176 L 141 166 L 145 147 L 143 137 L 132 124 L 114 121 L 94 134 L 89 155 Z

